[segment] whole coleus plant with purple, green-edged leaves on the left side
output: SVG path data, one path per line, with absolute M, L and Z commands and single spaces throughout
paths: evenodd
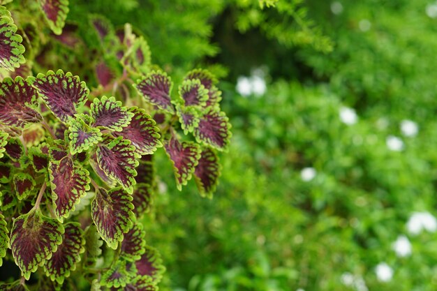
M 71 43 L 68 1 L 38 3 L 57 39 Z M 173 90 L 130 25 L 117 30 L 96 15 L 89 24 L 101 45 L 91 90 L 61 69 L 33 76 L 0 6 L 0 270 L 6 258 L 21 275 L 0 290 L 70 290 L 75 274 L 88 290 L 157 290 L 165 267 L 141 224 L 156 188 L 154 153 L 165 151 L 179 190 L 194 177 L 211 197 L 218 183 L 230 124 L 214 75 L 191 70 Z

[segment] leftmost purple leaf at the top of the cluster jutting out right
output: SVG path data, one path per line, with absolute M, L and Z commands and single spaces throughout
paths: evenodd
M 151 73 L 138 80 L 134 87 L 147 102 L 167 112 L 175 112 L 170 98 L 172 80 L 166 73 L 151 71 Z

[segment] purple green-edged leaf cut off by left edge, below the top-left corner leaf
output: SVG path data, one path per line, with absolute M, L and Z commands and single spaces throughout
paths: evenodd
M 5 78 L 0 83 L 0 123 L 22 129 L 40 122 L 37 98 L 36 90 L 22 77 Z

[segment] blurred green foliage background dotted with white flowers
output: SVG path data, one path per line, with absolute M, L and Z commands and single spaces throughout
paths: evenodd
M 437 289 L 436 1 L 75 2 L 68 20 L 131 22 L 172 75 L 221 77 L 213 199 L 157 153 L 161 290 Z

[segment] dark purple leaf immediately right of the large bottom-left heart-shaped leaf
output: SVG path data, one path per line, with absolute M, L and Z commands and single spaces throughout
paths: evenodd
M 85 251 L 85 240 L 80 223 L 66 223 L 65 232 L 62 235 L 60 244 L 44 265 L 45 274 L 58 283 L 63 283 L 64 278 L 70 276 L 75 270 L 77 262 L 80 261 L 80 254 Z

